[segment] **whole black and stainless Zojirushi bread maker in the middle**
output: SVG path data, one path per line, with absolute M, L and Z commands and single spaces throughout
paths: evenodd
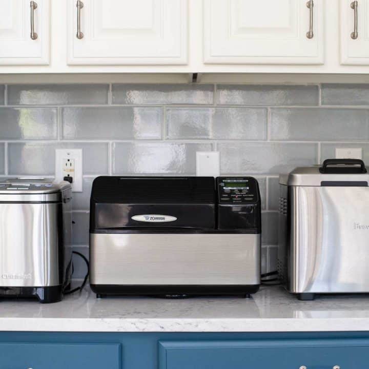
M 91 288 L 100 297 L 255 293 L 260 223 L 252 177 L 98 177 Z

